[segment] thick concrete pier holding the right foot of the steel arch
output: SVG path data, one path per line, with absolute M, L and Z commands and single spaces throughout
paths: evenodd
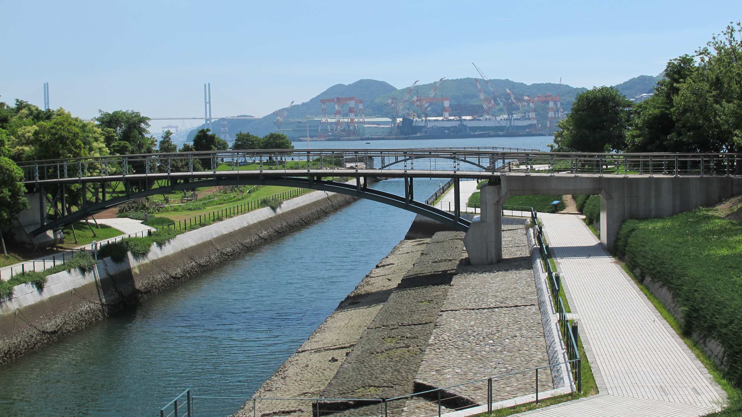
M 502 260 L 502 188 L 485 185 L 479 191 L 482 214 L 471 222 L 464 246 L 472 265 L 490 265 Z

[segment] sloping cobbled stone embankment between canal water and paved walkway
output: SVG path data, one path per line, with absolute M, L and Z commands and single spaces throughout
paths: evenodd
M 502 263 L 470 266 L 463 233 L 402 240 L 237 416 L 374 416 L 378 401 L 549 364 L 522 220 L 503 229 Z M 413 228 L 415 226 L 413 225 Z M 417 226 L 417 232 L 421 232 Z M 535 375 L 493 381 L 499 401 L 535 390 Z M 548 370 L 539 390 L 554 387 Z M 450 388 L 442 411 L 487 404 L 487 383 Z M 435 397 L 435 398 L 433 398 Z M 437 413 L 436 395 L 387 403 L 392 416 Z

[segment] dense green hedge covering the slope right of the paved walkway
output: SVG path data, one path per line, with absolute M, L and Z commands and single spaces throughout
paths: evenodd
M 712 209 L 663 219 L 626 220 L 616 241 L 639 278 L 672 292 L 683 331 L 712 338 L 726 351 L 729 380 L 742 387 L 742 224 Z

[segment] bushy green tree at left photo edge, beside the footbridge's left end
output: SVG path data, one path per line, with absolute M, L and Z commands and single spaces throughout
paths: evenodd
M 21 211 L 30 209 L 28 200 L 23 194 L 26 194 L 23 171 L 18 168 L 16 162 L 0 157 L 0 243 L 4 255 L 7 255 L 7 250 L 2 228 L 13 224 Z

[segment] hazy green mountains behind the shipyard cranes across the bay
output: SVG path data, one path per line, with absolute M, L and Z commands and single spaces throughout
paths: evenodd
M 660 74 L 658 76 L 637 76 L 629 79 L 626 82 L 614 85 L 614 87 L 618 88 L 618 90 L 621 91 L 621 93 L 626 95 L 628 98 L 633 98 L 634 96 L 638 96 L 639 94 L 653 92 L 654 86 L 657 85 L 657 81 L 659 81 L 662 77 L 663 74 Z M 502 94 L 502 96 L 505 96 L 505 88 L 507 87 L 518 99 L 520 99 L 520 97 L 522 96 L 532 97 L 539 94 L 547 93 L 552 93 L 554 95 L 560 94 L 562 99 L 562 108 L 565 111 L 569 111 L 572 106 L 572 102 L 574 102 L 577 94 L 587 90 L 587 88 L 572 87 L 571 85 L 565 84 L 562 84 L 560 88 L 558 83 L 553 82 L 534 83 L 531 85 L 527 85 L 522 82 L 510 81 L 509 79 L 490 79 L 489 82 L 490 85 L 495 88 L 495 91 L 497 91 L 498 94 Z M 487 98 L 491 97 L 492 94 L 484 85 L 484 83 L 481 82 L 481 80 L 480 84 L 482 85 L 482 91 L 485 92 L 485 96 L 487 96 Z M 422 85 L 418 84 L 413 90 L 412 95 L 414 96 L 416 94 L 419 94 L 421 96 L 427 96 L 428 93 L 433 90 L 435 85 L 436 82 L 430 82 L 428 84 Z M 327 88 L 322 93 L 319 93 L 317 96 L 314 96 L 312 99 L 309 99 L 308 102 L 293 105 L 292 108 L 289 109 L 289 114 L 288 116 L 286 116 L 286 119 L 301 119 L 307 114 L 309 114 L 309 116 L 318 116 L 321 114 L 322 108 L 320 99 L 347 96 L 355 96 L 357 99 L 364 100 L 364 114 L 366 116 L 390 117 L 393 115 L 393 113 L 388 106 L 384 105 L 384 103 L 386 103 L 387 100 L 390 99 L 390 97 L 396 97 L 399 100 L 403 99 L 404 96 L 407 94 L 408 89 L 409 85 L 405 86 L 404 88 L 395 88 L 393 85 L 390 85 L 387 82 L 378 81 L 375 79 L 359 79 L 358 81 L 348 85 L 335 84 L 332 85 L 332 87 Z M 469 115 L 469 113 L 464 111 L 465 108 L 476 108 L 476 106 L 479 106 L 479 111 L 481 111 L 482 109 L 482 102 L 479 99 L 476 82 L 473 78 L 444 79 L 438 91 L 436 91 L 435 96 L 450 97 L 452 117 L 459 116 L 462 111 L 462 115 Z M 405 106 L 405 108 L 409 108 L 409 105 Z M 284 109 L 285 108 L 281 110 Z M 430 115 L 440 116 L 441 111 L 442 104 L 433 103 L 433 105 L 431 105 Z M 541 116 L 541 114 L 539 113 L 542 113 L 542 111 L 543 109 L 537 108 L 537 116 Z M 327 112 L 329 114 L 334 114 L 335 107 L 334 105 L 332 105 L 332 103 L 329 103 L 327 105 Z M 493 109 L 492 114 L 493 116 L 505 114 L 505 109 L 502 108 L 501 105 L 497 105 Z M 200 125 L 199 127 L 194 128 L 194 130 L 189 132 L 188 141 L 193 139 L 198 129 L 204 127 L 205 125 Z M 213 125 L 213 127 L 214 133 L 220 134 L 221 121 L 217 121 Z M 272 113 L 267 114 L 266 116 L 263 116 L 261 119 L 257 120 L 228 119 L 227 127 L 229 128 L 229 134 L 231 137 L 234 137 L 234 134 L 239 131 L 250 132 L 258 136 L 264 136 L 276 131 L 275 115 Z

